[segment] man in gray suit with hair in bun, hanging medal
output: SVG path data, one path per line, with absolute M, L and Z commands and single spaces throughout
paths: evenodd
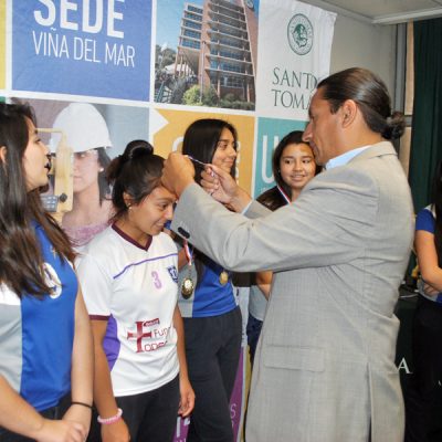
M 407 178 L 385 84 L 350 69 L 318 84 L 304 138 L 326 170 L 269 212 L 215 167 L 193 182 L 171 154 L 172 230 L 228 269 L 272 270 L 255 356 L 248 442 L 402 442 L 393 314 L 413 236 Z M 198 398 L 197 398 L 198 400 Z

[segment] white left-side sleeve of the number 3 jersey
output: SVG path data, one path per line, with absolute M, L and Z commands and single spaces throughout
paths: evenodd
M 86 254 L 77 263 L 78 281 L 91 318 L 110 316 L 113 278 L 97 260 Z

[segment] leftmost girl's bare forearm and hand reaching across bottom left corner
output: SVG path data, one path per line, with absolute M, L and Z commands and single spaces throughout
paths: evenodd
M 78 422 L 44 419 L 0 375 L 0 425 L 39 442 L 83 442 L 87 430 Z

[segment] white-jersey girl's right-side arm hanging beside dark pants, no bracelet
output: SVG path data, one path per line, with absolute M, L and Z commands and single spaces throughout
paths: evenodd
M 187 370 L 187 361 L 186 361 L 186 347 L 185 347 L 185 327 L 182 324 L 181 313 L 178 306 L 175 307 L 173 312 L 173 327 L 177 330 L 177 352 L 178 352 L 178 360 L 180 366 L 180 407 L 179 407 L 179 414 L 183 418 L 189 415 L 194 407 L 194 392 L 192 386 L 189 381 L 189 375 Z

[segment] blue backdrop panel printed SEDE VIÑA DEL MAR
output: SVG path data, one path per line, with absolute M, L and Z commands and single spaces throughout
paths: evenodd
M 149 99 L 151 0 L 12 4 L 14 90 Z

